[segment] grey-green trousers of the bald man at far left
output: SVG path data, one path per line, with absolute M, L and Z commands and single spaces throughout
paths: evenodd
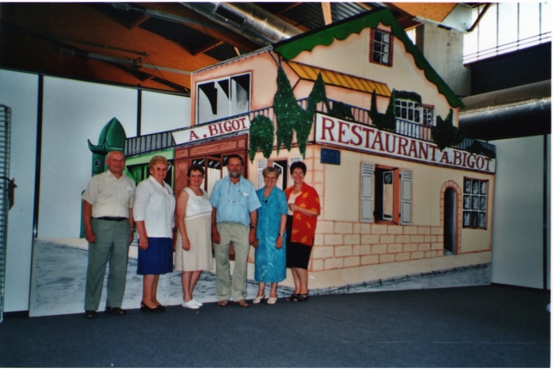
M 131 227 L 127 220 L 114 222 L 92 218 L 92 230 L 96 242 L 88 243 L 85 310 L 98 310 L 108 262 L 106 306 L 120 308 L 127 283 Z

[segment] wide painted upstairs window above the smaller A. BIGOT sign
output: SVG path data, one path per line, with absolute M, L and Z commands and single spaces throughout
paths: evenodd
M 197 84 L 196 123 L 213 122 L 249 112 L 250 81 L 248 73 Z

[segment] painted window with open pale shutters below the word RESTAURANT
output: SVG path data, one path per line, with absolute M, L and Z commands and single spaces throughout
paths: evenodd
M 360 221 L 411 224 L 413 172 L 361 163 Z

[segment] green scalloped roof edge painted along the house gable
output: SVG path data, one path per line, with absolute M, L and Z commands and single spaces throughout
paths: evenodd
M 357 17 L 331 24 L 324 29 L 300 34 L 296 37 L 274 44 L 273 49 L 284 59 L 291 60 L 302 51 L 311 51 L 317 45 L 328 46 L 332 44 L 334 39 L 345 40 L 352 33 L 361 33 L 365 28 L 376 28 L 379 23 L 392 28 L 394 36 L 401 40 L 408 53 L 413 55 L 416 66 L 424 70 L 426 78 L 437 86 L 438 91 L 447 98 L 447 101 L 452 107 L 465 107 L 461 99 L 451 90 L 446 82 L 442 80 L 430 63 L 428 63 L 419 48 L 411 42 L 403 27 L 401 27 L 397 19 L 395 19 L 394 15 L 388 9 L 360 14 Z

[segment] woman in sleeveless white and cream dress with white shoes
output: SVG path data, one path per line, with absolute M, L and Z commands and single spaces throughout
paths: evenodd
M 211 203 L 201 188 L 204 167 L 188 168 L 188 186 L 176 201 L 176 224 L 179 227 L 175 246 L 175 271 L 182 271 L 183 308 L 198 309 L 202 303 L 192 293 L 202 271 L 213 268 L 211 254 Z

